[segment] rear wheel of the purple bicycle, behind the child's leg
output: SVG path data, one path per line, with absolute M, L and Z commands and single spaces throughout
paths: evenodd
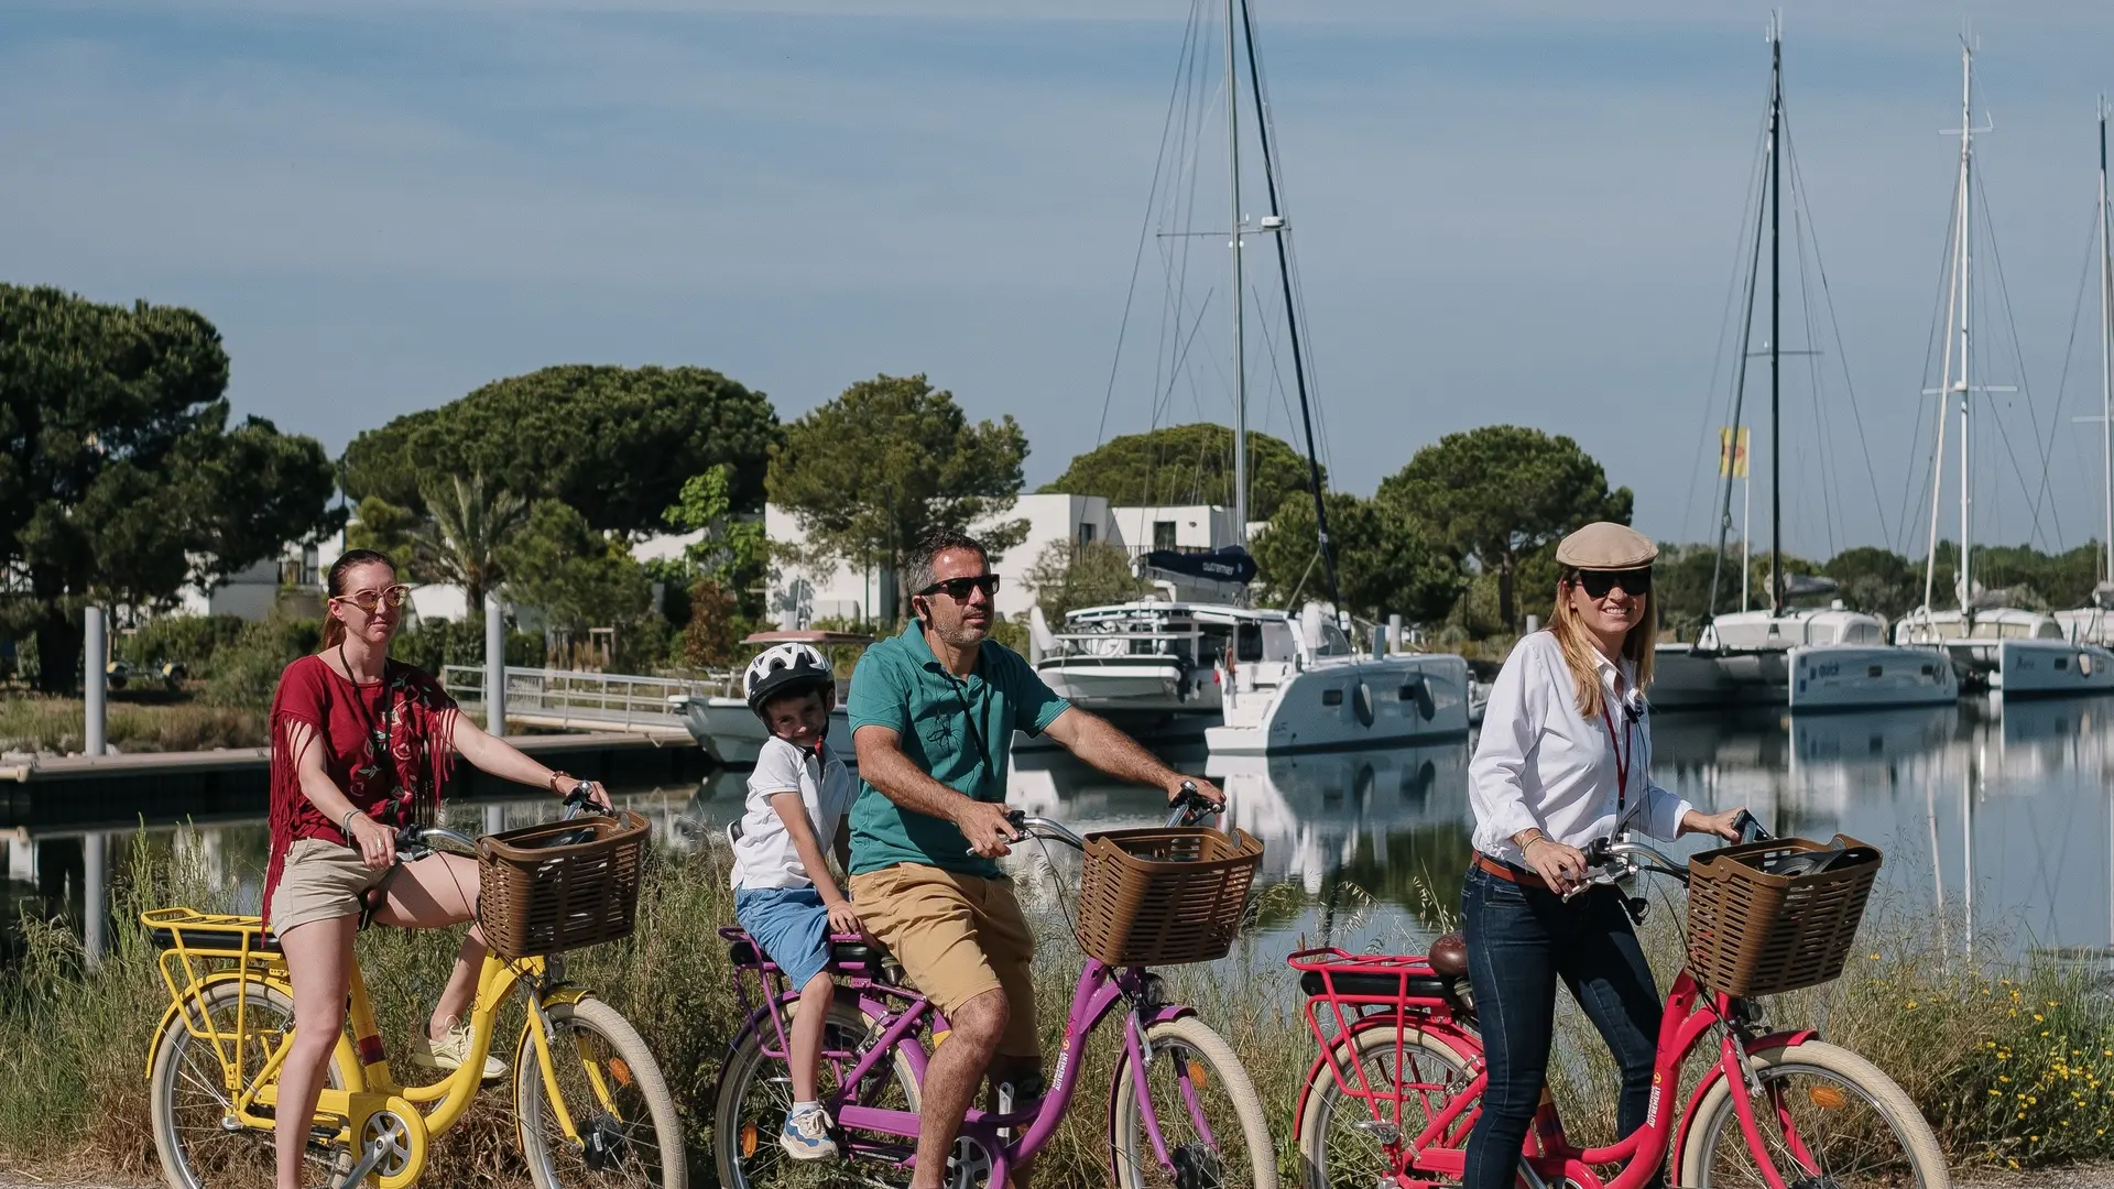
M 822 1026 L 822 1068 L 816 1090 L 827 1100 L 841 1077 L 852 1071 L 843 1058 L 827 1054 L 852 1054 L 867 1037 L 867 1018 L 846 1001 L 831 1003 L 829 1024 Z M 886 1111 L 917 1111 L 917 1079 L 909 1058 L 898 1049 L 890 1062 L 877 1064 L 867 1075 L 860 1102 Z M 782 1147 L 778 1134 L 786 1126 L 793 1109 L 793 1079 L 782 1060 L 763 1051 L 761 1035 L 748 1032 L 742 1045 L 727 1058 L 727 1071 L 719 1085 L 719 1106 L 712 1117 L 712 1159 L 719 1164 L 719 1183 L 725 1189 L 761 1189 L 765 1185 L 909 1185 L 909 1172 L 884 1161 L 816 1159 L 797 1161 Z M 846 1153 L 843 1132 L 837 1132 L 839 1157 Z M 905 1140 L 903 1155 L 911 1145 Z M 882 1153 L 875 1153 L 882 1155 Z

